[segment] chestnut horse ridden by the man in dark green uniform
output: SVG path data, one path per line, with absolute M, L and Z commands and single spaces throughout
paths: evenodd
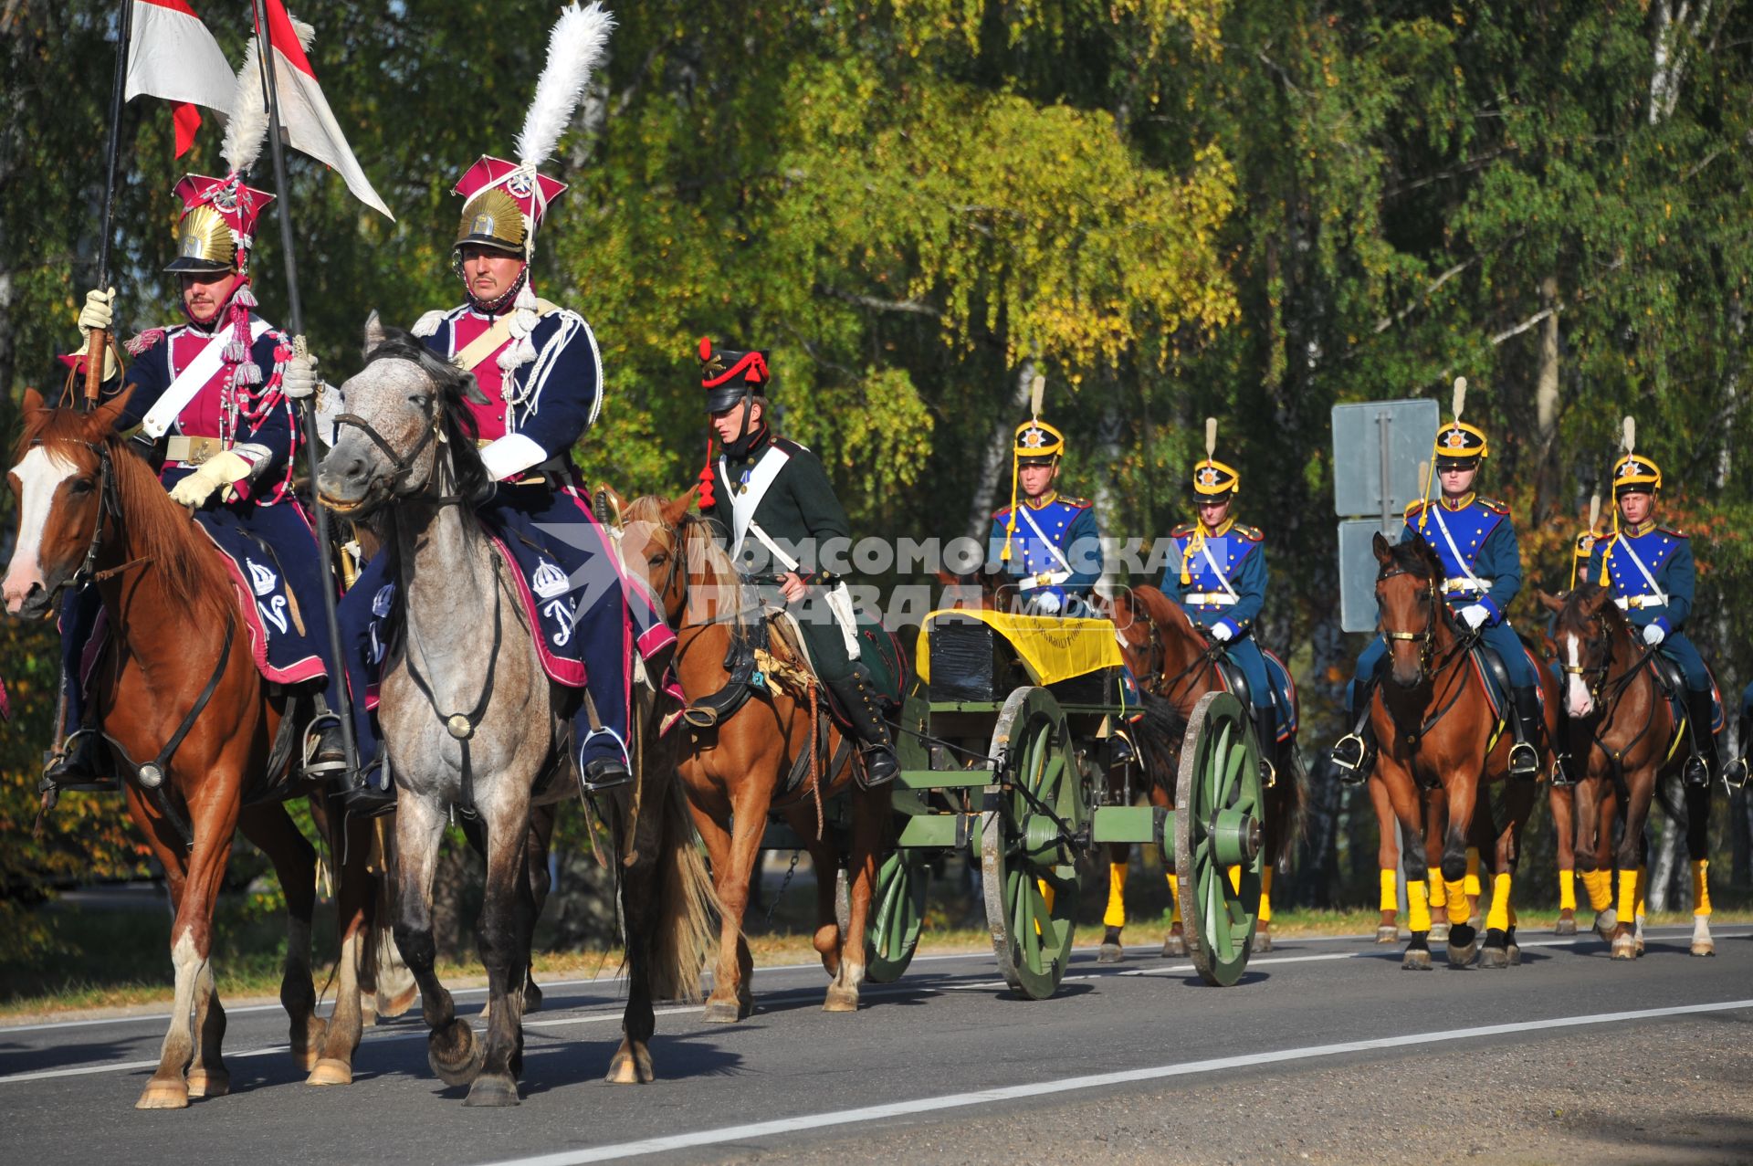
M 733 691 L 736 682 L 726 672 L 733 638 L 749 635 L 756 621 L 770 617 L 713 540 L 708 523 L 689 514 L 692 501 L 692 493 L 670 501 L 647 496 L 624 505 L 615 498 L 624 515 L 621 547 L 628 568 L 645 579 L 677 629 L 675 673 L 689 705 L 698 707 Z M 810 701 L 775 679 L 761 687 L 750 686 L 740 700 L 738 705 L 726 705 L 727 712 L 715 724 L 694 714 L 671 731 L 682 754 L 680 773 L 694 826 L 712 857 L 722 905 L 719 963 L 705 1019 L 729 1024 L 754 1012 L 749 987 L 754 961 L 743 938 L 743 912 L 770 814 L 780 814 L 806 840 L 815 863 L 813 945 L 834 978 L 824 1008 L 854 1012 L 864 978 L 864 924 L 876 857 L 889 826 L 889 786 L 871 791 L 854 784 L 850 750 L 840 747 L 840 729 L 817 735 Z M 812 745 L 817 761 L 808 764 L 806 777 L 794 789 L 785 791 L 782 784 Z M 833 759 L 841 754 L 845 759 L 834 766 Z M 840 850 L 833 835 L 820 831 L 820 815 L 822 801 L 847 787 L 852 787 L 850 912 L 841 931 L 834 912 Z

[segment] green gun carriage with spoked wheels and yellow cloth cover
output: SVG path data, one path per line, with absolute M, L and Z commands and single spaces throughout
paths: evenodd
M 999 970 L 1029 999 L 1071 959 L 1082 859 L 1097 845 L 1159 847 L 1180 877 L 1192 963 L 1229 985 L 1248 964 L 1260 903 L 1260 749 L 1229 693 L 1194 708 L 1175 810 L 1134 807 L 1124 665 L 1113 624 L 1001 612 L 933 612 L 896 749 L 892 847 L 866 933 L 866 977 L 901 977 L 919 947 L 934 857 L 978 857 Z M 1110 771 L 1118 789 L 1110 791 Z M 841 817 L 845 807 L 836 807 Z M 768 849 L 794 849 L 785 826 Z

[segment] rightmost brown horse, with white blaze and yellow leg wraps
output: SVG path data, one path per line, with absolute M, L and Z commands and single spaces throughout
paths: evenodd
M 1639 643 L 1606 587 L 1583 584 L 1562 600 L 1543 593 L 1541 603 L 1558 615 L 1553 642 L 1565 677 L 1565 745 L 1578 777 L 1576 866 L 1585 878 L 1618 866 L 1613 959 L 1636 959 L 1644 824 L 1660 786 L 1681 771 L 1681 726 L 1657 686 L 1651 668 L 1657 649 Z M 1685 812 L 1665 801 L 1664 807 L 1686 826 L 1693 870 L 1692 954 L 1714 956 L 1706 878 L 1711 789 L 1688 786 L 1685 796 Z M 1625 829 L 1615 852 L 1616 814 Z M 1597 919 L 1597 929 L 1604 926 Z

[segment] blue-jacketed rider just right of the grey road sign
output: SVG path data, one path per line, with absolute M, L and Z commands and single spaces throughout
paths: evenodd
M 1443 563 L 1443 598 L 1464 629 L 1476 631 L 1509 673 L 1509 700 L 1515 707 L 1509 729 L 1509 773 L 1532 780 L 1539 773 L 1534 742 L 1541 735 L 1539 682 L 1522 638 L 1509 626 L 1509 601 L 1522 589 L 1522 551 L 1509 519 L 1509 507 L 1473 491 L 1480 463 L 1488 449 L 1485 431 L 1460 419 L 1462 389 L 1455 395 L 1455 419 L 1437 430 L 1432 449 L 1441 496 L 1415 501 L 1406 508 L 1406 528 L 1399 542 L 1423 540 Z M 1376 670 L 1388 656 L 1383 636 L 1371 640 L 1357 661 L 1357 673 L 1346 689 L 1352 731 L 1332 747 L 1339 779 L 1352 784 L 1369 777 L 1376 742 L 1369 729 L 1369 698 Z

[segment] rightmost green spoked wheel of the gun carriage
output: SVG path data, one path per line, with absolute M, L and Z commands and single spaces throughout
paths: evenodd
M 1194 968 L 1231 985 L 1248 966 L 1260 910 L 1260 745 L 1229 693 L 1194 705 L 1175 801 L 1182 919 L 1197 936 Z

